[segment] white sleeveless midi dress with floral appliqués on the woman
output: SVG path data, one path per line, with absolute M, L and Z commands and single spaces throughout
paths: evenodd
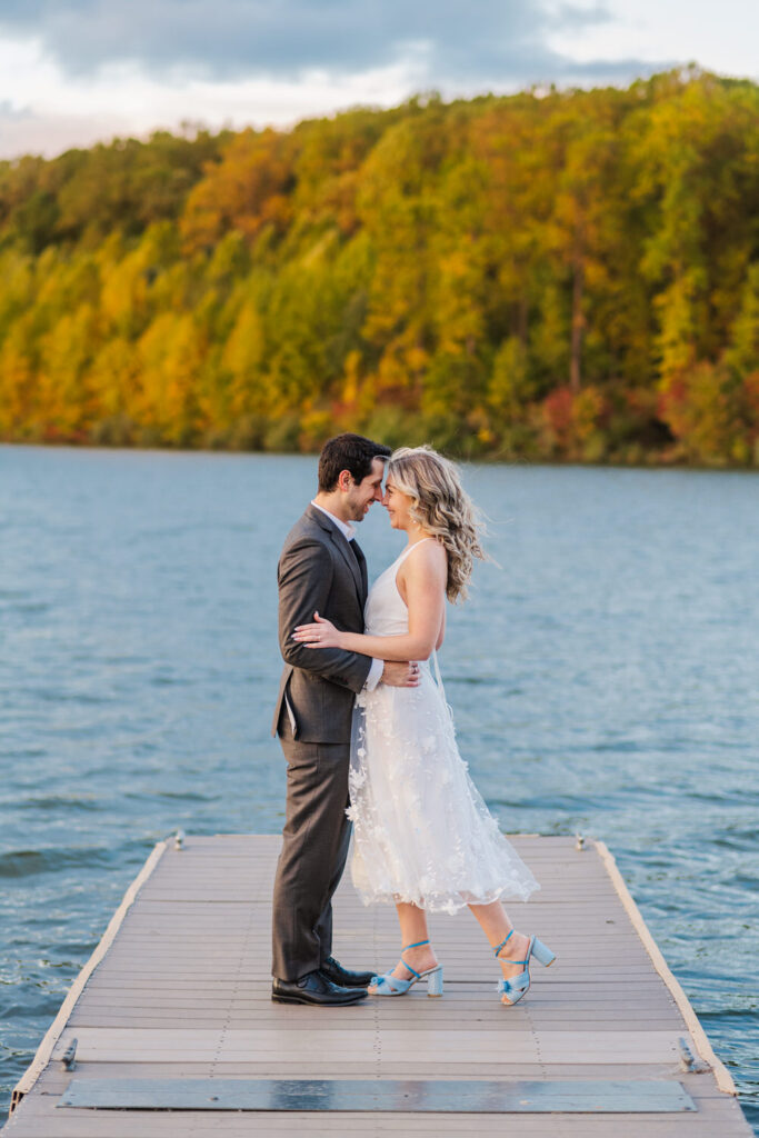
M 407 546 L 372 586 L 368 634 L 409 632 L 396 574 L 414 549 Z M 422 662 L 419 687 L 379 684 L 356 699 L 348 809 L 353 882 L 364 905 L 413 901 L 432 913 L 497 898 L 526 900 L 541 887 L 469 777 L 434 659 L 437 683 Z

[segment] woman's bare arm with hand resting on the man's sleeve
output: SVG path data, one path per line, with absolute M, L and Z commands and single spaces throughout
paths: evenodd
M 299 625 L 292 638 L 307 648 L 341 648 L 378 660 L 429 659 L 445 619 L 445 550 L 437 543 L 426 543 L 423 549 L 406 559 L 403 569 L 409 609 L 407 633 L 401 636 L 341 633 L 315 613 L 316 622 Z

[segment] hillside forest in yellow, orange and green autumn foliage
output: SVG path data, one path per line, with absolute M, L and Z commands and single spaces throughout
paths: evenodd
M 759 467 L 759 86 L 0 163 L 0 438 Z

